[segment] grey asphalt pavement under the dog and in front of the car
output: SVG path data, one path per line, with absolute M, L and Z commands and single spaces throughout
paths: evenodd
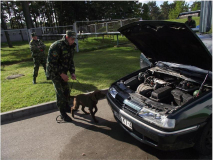
M 1 159 L 212 159 L 192 148 L 165 152 L 142 144 L 116 123 L 106 99 L 98 109 L 98 124 L 82 111 L 72 123 L 57 123 L 55 109 L 2 124 Z

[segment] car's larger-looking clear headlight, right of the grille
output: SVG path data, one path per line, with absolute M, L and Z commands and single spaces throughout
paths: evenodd
M 143 108 L 138 113 L 144 120 L 154 123 L 163 128 L 174 128 L 175 119 L 168 119 L 167 116 L 162 116 L 159 113 L 155 113 L 147 108 Z

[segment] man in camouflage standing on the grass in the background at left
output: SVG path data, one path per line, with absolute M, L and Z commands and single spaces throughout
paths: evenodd
M 37 38 L 36 33 L 31 34 L 32 40 L 30 41 L 30 50 L 32 52 L 33 62 L 34 62 L 34 72 L 33 72 L 33 84 L 36 84 L 36 77 L 38 76 L 39 65 L 42 64 L 44 71 L 46 72 L 46 58 L 45 58 L 45 45 Z

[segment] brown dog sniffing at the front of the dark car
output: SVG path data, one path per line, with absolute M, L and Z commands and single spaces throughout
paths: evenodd
M 71 115 L 74 118 L 74 112 L 78 110 L 81 105 L 81 110 L 85 114 L 91 114 L 95 123 L 98 123 L 98 120 L 95 118 L 95 113 L 98 111 L 97 103 L 98 100 L 104 98 L 106 96 L 107 90 L 96 90 L 89 94 L 79 94 L 77 96 L 70 96 L 73 99 L 73 106 L 71 107 Z M 89 108 L 90 112 L 86 112 L 85 107 Z M 93 109 L 95 109 L 93 111 Z

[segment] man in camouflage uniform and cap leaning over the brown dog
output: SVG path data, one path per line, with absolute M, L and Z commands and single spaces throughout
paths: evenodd
M 70 88 L 68 85 L 68 71 L 73 80 L 75 76 L 75 66 L 73 62 L 76 33 L 66 31 L 66 35 L 61 40 L 54 42 L 48 51 L 47 56 L 47 78 L 53 82 L 57 107 L 64 121 L 71 122 L 72 119 L 66 114 L 68 108 Z

